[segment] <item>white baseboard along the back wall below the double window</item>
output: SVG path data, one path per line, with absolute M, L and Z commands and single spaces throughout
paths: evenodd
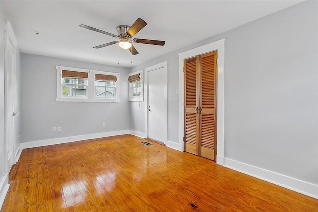
M 116 135 L 125 135 L 125 134 L 129 134 L 129 130 L 102 132 L 102 133 L 95 133 L 95 134 L 88 134 L 88 135 L 76 135 L 76 136 L 69 136 L 69 137 L 63 137 L 63 138 L 30 141 L 30 142 L 21 143 L 21 146 L 22 146 L 22 149 L 27 149 L 27 148 L 33 148 L 33 147 L 49 146 L 54 144 L 70 143 L 70 142 L 81 141 L 81 140 L 88 140 L 88 139 L 102 138 L 102 137 L 109 137 L 109 136 L 116 136 Z

